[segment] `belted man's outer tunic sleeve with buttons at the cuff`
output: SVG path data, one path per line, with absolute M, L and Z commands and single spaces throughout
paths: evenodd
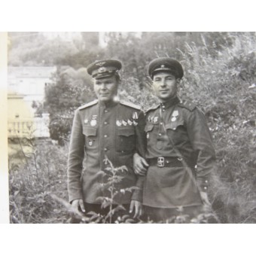
M 197 160 L 197 184 L 200 190 L 207 191 L 216 157 L 206 118 L 197 108 L 188 117 L 187 134 Z

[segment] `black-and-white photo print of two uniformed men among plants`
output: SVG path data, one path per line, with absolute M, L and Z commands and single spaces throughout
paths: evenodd
M 256 32 L 8 32 L 13 224 L 256 223 Z

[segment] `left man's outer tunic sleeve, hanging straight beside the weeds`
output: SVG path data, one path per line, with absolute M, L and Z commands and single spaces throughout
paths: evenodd
M 69 145 L 68 191 L 69 202 L 82 199 L 81 172 L 84 160 L 84 135 L 79 110 L 75 111 Z

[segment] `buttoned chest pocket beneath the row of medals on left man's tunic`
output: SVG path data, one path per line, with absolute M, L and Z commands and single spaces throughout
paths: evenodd
M 117 152 L 134 151 L 135 144 L 135 130 L 133 127 L 120 127 L 117 129 Z

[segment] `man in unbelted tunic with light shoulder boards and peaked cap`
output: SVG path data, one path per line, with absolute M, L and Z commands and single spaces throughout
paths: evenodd
M 122 204 L 136 218 L 142 213 L 142 189 L 124 190 L 142 187 L 133 170 L 133 155 L 145 154 L 145 118 L 139 106 L 115 100 L 121 67 L 115 59 L 99 60 L 87 67 L 98 99 L 75 111 L 68 160 L 69 201 L 82 212 L 108 213 L 99 200 L 111 197 L 105 174 L 110 167 L 107 158 L 114 167 L 128 169 L 118 173 L 121 181 L 115 184 L 119 193 L 114 203 Z

